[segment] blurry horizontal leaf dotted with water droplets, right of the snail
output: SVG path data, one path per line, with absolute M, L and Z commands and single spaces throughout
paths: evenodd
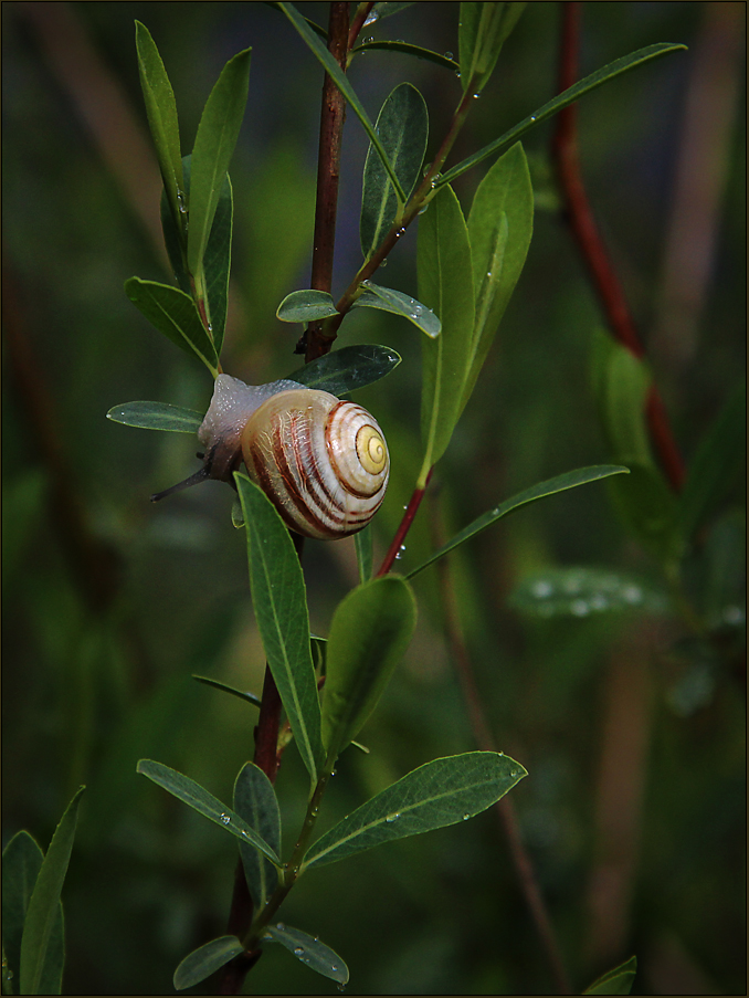
M 509 606 L 535 617 L 591 617 L 625 610 L 663 613 L 666 595 L 634 575 L 589 568 L 545 568 L 523 579 Z

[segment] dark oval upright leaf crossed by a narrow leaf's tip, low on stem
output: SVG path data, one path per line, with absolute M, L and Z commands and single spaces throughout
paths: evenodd
M 234 810 L 250 828 L 281 853 L 281 813 L 273 784 L 254 763 L 245 763 L 234 782 Z M 262 911 L 278 886 L 273 863 L 250 848 L 240 845 L 244 875 L 256 911 Z

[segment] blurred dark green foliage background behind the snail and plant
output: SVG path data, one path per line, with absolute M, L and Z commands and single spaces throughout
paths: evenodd
M 740 87 L 732 105 L 721 92 L 728 111 L 709 112 L 728 113 L 730 127 L 716 153 L 725 183 L 688 361 L 676 363 L 653 333 L 662 318 L 681 137 L 694 106 L 686 95 L 709 41 L 708 7 L 583 9 L 582 72 L 658 41 L 689 45 L 688 54 L 645 66 L 580 106 L 589 193 L 643 339 L 654 348 L 654 377 L 687 461 L 746 366 Z M 305 13 L 327 20 L 321 3 L 306 4 Z M 285 19 L 259 3 L 3 3 L 2 19 L 3 844 L 20 828 L 49 842 L 86 782 L 63 892 L 64 989 L 170 994 L 182 956 L 224 931 L 236 850 L 230 837 L 138 777 L 136 760 L 161 759 L 230 799 L 235 773 L 252 756 L 256 713 L 190 674 L 260 692 L 264 661 L 229 490 L 210 483 L 151 506 L 151 492 L 196 466 L 193 441 L 105 419 L 130 399 L 204 410 L 211 393 L 199 365 L 159 337 L 123 291 L 133 274 L 169 279 L 148 229 L 148 219 L 158 224 L 159 206 L 148 145 L 145 171 L 138 159 L 136 139 L 147 143 L 147 130 L 134 20 L 147 24 L 169 72 L 183 153 L 221 67 L 253 48 L 249 109 L 231 166 L 224 358 L 228 370 L 254 384 L 298 366 L 292 351 L 299 330 L 277 322 L 275 309 L 308 285 L 321 78 Z M 734 23 L 742 38 L 740 14 Z M 365 34 L 455 52 L 456 27 L 457 4 L 419 3 Z M 553 94 L 558 28 L 557 6 L 528 4 L 455 160 Z M 372 118 L 404 77 L 430 107 L 429 156 L 458 82 L 439 66 L 376 50 L 351 67 Z M 125 118 L 115 113 L 118 99 Z M 334 294 L 360 262 L 367 139 L 349 118 Z M 590 339 L 604 319 L 557 209 L 552 127 L 525 143 L 537 201 L 528 261 L 439 466 L 434 496 L 409 535 L 404 569 L 515 492 L 610 458 L 588 386 Z M 483 172 L 457 182 L 464 208 Z M 414 260 L 409 231 L 382 283 L 413 294 Z M 405 321 L 359 309 L 344 324 L 340 345 L 368 342 L 404 358 L 357 396 L 398 459 L 374 521 L 377 561 L 420 463 L 420 344 Z M 746 584 L 737 558 L 746 546 L 743 502 L 741 481 L 732 483 L 686 560 L 689 591 L 722 628 L 717 643 L 689 637 L 671 619 L 525 619 L 508 608 L 515 586 L 544 568 L 580 564 L 653 576 L 653 563 L 623 533 L 600 486 L 536 504 L 453 557 L 487 716 L 498 746 L 530 774 L 514 799 L 579 988 L 631 953 L 639 956 L 635 994 L 678 992 L 685 983 L 697 992 L 738 994 L 746 986 Z M 309 544 L 304 569 L 313 631 L 327 633 L 333 608 L 357 579 L 354 542 Z M 424 572 L 415 589 L 416 637 L 361 733 L 370 754 L 341 759 L 323 831 L 415 766 L 475 747 L 436 575 Z M 612 742 L 610 726 L 612 676 L 623 669 L 626 677 L 627 665 L 633 680 L 623 689 L 634 690 L 630 727 L 640 736 L 639 758 L 624 752 L 626 738 Z M 606 750 L 623 753 L 608 768 Z M 626 815 L 634 823 L 620 851 L 602 855 L 616 784 L 606 786 L 601 774 L 612 771 L 632 777 Z M 287 753 L 278 778 L 285 823 L 300 820 L 305 782 L 300 760 Z M 616 942 L 604 953 L 591 897 L 594 873 L 605 869 L 621 874 L 622 890 Z M 492 812 L 313 871 L 283 915 L 345 956 L 356 992 L 542 994 L 551 986 Z M 335 994 L 335 985 L 279 947 L 250 983 L 256 994 Z

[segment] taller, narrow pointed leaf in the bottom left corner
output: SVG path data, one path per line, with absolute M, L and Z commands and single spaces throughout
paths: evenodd
M 22 995 L 44 995 L 46 991 L 42 987 L 45 986 L 45 979 L 59 981 L 62 977 L 60 895 L 73 851 L 78 806 L 84 790 L 85 787 L 77 790 L 60 819 L 29 900 L 21 939 L 19 977 Z M 59 960 L 54 967 L 50 965 L 53 953 L 56 953 Z

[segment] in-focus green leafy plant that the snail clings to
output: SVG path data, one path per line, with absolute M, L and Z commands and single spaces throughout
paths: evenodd
M 489 80 L 523 4 L 461 4 L 457 62 L 400 41 L 356 44 L 365 23 L 394 13 L 404 4 L 360 4 L 349 25 L 348 4 L 334 3 L 327 35 L 292 4 L 274 6 L 326 70 L 330 96 L 327 124 L 333 134 L 336 138 L 340 135 L 346 101 L 371 143 L 362 183 L 363 263 L 338 302 L 330 294 L 337 144 L 323 146 L 313 286 L 288 294 L 277 311 L 282 321 L 307 325 L 297 351 L 305 354 L 308 366 L 288 377 L 307 388 L 323 387 L 338 395 L 371 384 L 392 370 L 400 358 L 388 347 L 347 347 L 330 353 L 341 323 L 350 309 L 360 307 L 384 309 L 407 318 L 424 335 L 423 456 L 411 503 L 374 577 L 368 528 L 357 536 L 361 582 L 337 608 L 324 642 L 309 632 L 299 566 L 302 543 L 292 539 L 261 489 L 241 471 L 233 473 L 231 484 L 239 496 L 233 521 L 246 532 L 252 599 L 268 670 L 260 701 L 255 763 L 247 763 L 236 777 L 233 808 L 162 764 L 141 760 L 138 766 L 140 773 L 241 842 L 243 869 L 238 873 L 230 934 L 184 958 L 175 974 L 178 988 L 226 967 L 223 987 L 236 990 L 267 942 L 281 943 L 314 969 L 346 984 L 348 970 L 333 950 L 299 929 L 272 924 L 298 876 L 312 866 L 380 842 L 466 820 L 499 800 L 526 775 L 519 763 L 503 753 L 466 753 L 435 759 L 402 777 L 313 841 L 321 798 L 339 755 L 377 705 L 410 643 L 416 610 L 408 579 L 508 513 L 579 484 L 619 475 L 627 471 L 622 465 L 637 462 L 639 455 L 626 447 L 614 448 L 621 464 L 581 469 L 528 489 L 464 528 L 405 577 L 391 572 L 434 465 L 450 445 L 471 398 L 528 251 L 532 190 L 518 139 L 588 91 L 683 48 L 652 45 L 618 60 L 570 86 L 485 148 L 443 172 L 461 127 Z M 197 356 L 215 378 L 222 370 L 231 262 L 233 201 L 226 170 L 247 95 L 250 51 L 239 53 L 224 67 L 203 111 L 192 154 L 182 157 L 175 98 L 163 64 L 140 23 L 136 38 L 146 107 L 163 180 L 165 241 L 179 287 L 133 277 L 126 291 L 161 333 Z M 397 86 L 373 125 L 347 80 L 350 61 L 378 48 L 430 59 L 458 73 L 457 106 L 425 168 L 422 165 L 429 123 L 419 91 L 407 83 Z M 466 220 L 451 182 L 504 148 L 507 150 L 478 186 Z M 370 280 L 418 217 L 419 300 Z M 627 411 L 641 409 L 640 398 L 627 400 Z M 200 413 L 157 402 L 126 403 L 108 416 L 129 426 L 188 433 L 196 432 L 202 420 Z M 225 477 L 230 480 L 228 474 Z M 623 495 L 630 494 L 625 486 L 622 490 Z M 642 506 L 642 502 L 637 506 L 639 502 L 634 500 L 635 507 Z M 245 695 L 236 690 L 228 692 Z M 257 702 L 256 697 L 249 698 Z M 282 707 L 287 719 L 279 728 Z M 296 845 L 282 861 L 273 782 L 289 739 L 297 745 L 307 768 L 309 795 Z

